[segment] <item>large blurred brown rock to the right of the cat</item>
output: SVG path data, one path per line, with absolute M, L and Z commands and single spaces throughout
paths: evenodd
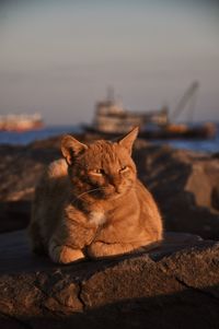
M 218 157 L 166 145 L 148 145 L 135 157 L 166 230 L 219 238 Z

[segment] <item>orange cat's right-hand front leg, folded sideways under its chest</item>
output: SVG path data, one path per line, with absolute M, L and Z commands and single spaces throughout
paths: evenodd
M 138 244 L 105 244 L 103 242 L 94 242 L 87 248 L 87 255 L 91 258 L 102 258 L 108 256 L 123 255 L 138 249 Z

